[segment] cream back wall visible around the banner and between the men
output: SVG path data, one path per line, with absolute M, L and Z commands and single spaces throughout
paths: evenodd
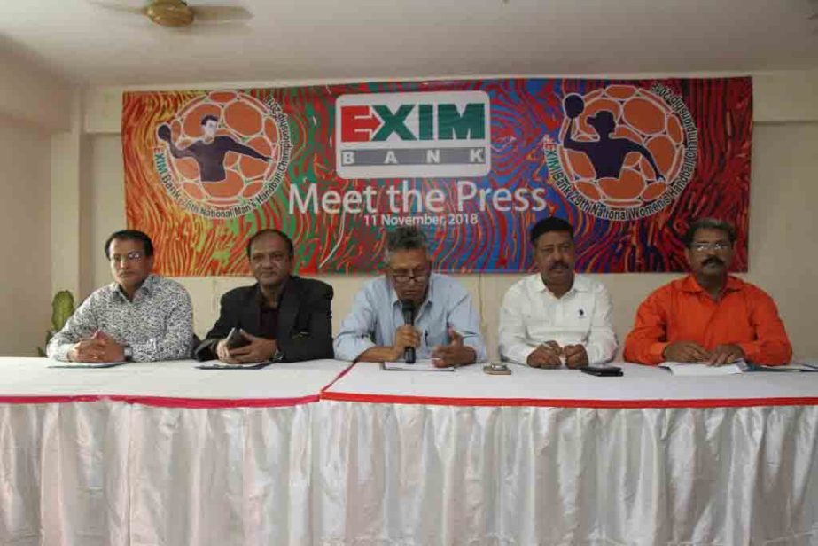
M 816 221 L 810 208 L 818 203 L 818 73 L 763 74 L 754 78 L 755 129 L 752 150 L 750 271 L 779 303 L 797 356 L 818 357 L 818 336 L 811 332 L 811 313 L 818 290 L 810 281 L 818 273 Z M 270 84 L 273 85 L 273 84 Z M 183 86 L 180 86 L 180 88 Z M 230 87 L 226 85 L 225 87 Z M 86 95 L 84 129 L 92 215 L 90 248 L 93 285 L 110 282 L 102 244 L 125 225 L 121 138 L 121 90 L 95 89 Z M 658 285 L 674 275 L 598 275 L 612 293 L 615 329 L 620 342 L 633 324 L 635 308 Z M 319 277 L 335 287 L 333 328 L 347 314 L 354 292 L 368 276 Z M 474 295 L 483 317 L 490 354 L 495 354 L 497 309 L 502 294 L 518 275 L 473 275 L 460 280 Z M 202 335 L 218 314 L 218 300 L 231 287 L 252 282 L 236 277 L 179 279 L 194 301 L 195 328 Z

